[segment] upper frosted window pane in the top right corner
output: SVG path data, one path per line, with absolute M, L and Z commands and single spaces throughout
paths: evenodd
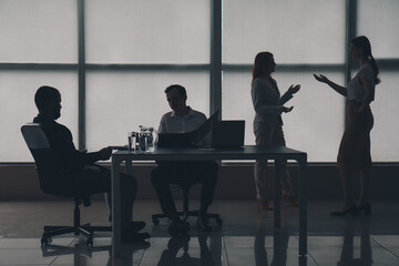
M 358 35 L 371 42 L 375 58 L 399 58 L 399 1 L 358 1 Z

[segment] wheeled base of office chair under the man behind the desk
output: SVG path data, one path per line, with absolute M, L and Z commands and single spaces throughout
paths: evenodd
M 181 187 L 183 190 L 183 211 L 177 212 L 180 216 L 183 216 L 184 221 L 187 221 L 190 216 L 198 217 L 200 211 L 188 211 L 188 197 L 190 197 L 190 188 L 195 185 L 192 182 L 174 184 L 175 187 Z M 218 226 L 222 225 L 223 219 L 221 219 L 218 214 L 208 213 L 208 218 L 214 218 Z M 152 222 L 154 225 L 160 224 L 160 218 L 170 218 L 167 214 L 153 214 Z

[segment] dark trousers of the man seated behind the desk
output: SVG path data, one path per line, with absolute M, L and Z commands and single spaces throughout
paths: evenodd
M 151 182 L 160 200 L 162 212 L 173 219 L 178 216 L 170 184 L 190 186 L 201 183 L 201 214 L 204 215 L 213 201 L 217 182 L 217 164 L 215 162 L 164 162 L 151 172 Z

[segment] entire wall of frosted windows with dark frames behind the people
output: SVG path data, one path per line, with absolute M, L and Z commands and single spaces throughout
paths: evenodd
M 387 117 L 399 112 L 398 13 L 397 0 L 2 0 L 0 162 L 32 161 L 19 129 L 37 114 L 33 95 L 44 84 L 61 91 L 59 122 L 82 149 L 157 127 L 173 83 L 194 109 L 245 120 L 245 143 L 254 144 L 250 71 L 260 51 L 274 53 L 282 93 L 301 84 L 283 115 L 287 145 L 310 162 L 335 162 L 345 99 L 313 73 L 345 84 L 357 70 L 348 41 L 359 34 L 369 37 L 382 81 L 371 104 L 372 157 L 397 162 L 399 126 Z

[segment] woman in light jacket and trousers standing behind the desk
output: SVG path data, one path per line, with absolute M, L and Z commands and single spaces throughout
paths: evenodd
M 280 96 L 277 82 L 272 78 L 275 72 L 275 60 L 269 52 L 259 52 L 254 62 L 252 81 L 252 101 L 255 110 L 254 134 L 256 145 L 286 145 L 283 132 L 282 113 L 293 110 L 284 104 L 293 98 L 300 89 L 300 85 L 291 85 Z M 296 195 L 287 170 L 287 162 L 280 162 L 283 198 L 291 206 L 297 206 Z M 266 190 L 267 160 L 257 160 L 255 163 L 256 200 L 260 209 L 273 209 L 267 200 Z M 275 195 L 280 196 L 280 195 Z

